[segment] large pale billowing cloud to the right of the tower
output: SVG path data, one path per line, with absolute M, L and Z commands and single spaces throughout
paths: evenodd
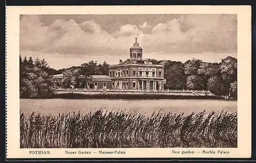
M 184 15 L 154 26 L 144 38 L 144 49 L 168 53 L 236 52 L 236 23 L 235 15 Z

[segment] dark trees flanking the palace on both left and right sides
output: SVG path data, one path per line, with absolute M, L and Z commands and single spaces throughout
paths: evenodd
M 220 63 L 203 62 L 192 59 L 185 63 L 170 60 L 148 59 L 153 64 L 164 65 L 164 89 L 172 90 L 209 90 L 216 95 L 237 97 L 237 59 L 226 57 Z M 90 61 L 80 66 L 55 70 L 50 68 L 45 59 L 32 60 L 19 56 L 20 70 L 20 97 L 44 98 L 49 95 L 47 77 L 54 74 L 63 74 L 63 87 L 86 87 L 91 75 L 108 75 L 109 64 L 97 64 Z

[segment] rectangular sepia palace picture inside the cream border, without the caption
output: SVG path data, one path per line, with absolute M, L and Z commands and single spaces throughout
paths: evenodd
M 237 15 L 20 15 L 20 148 L 236 148 Z

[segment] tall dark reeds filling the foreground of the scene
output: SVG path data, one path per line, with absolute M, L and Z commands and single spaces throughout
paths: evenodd
M 20 114 L 20 148 L 237 147 L 237 112 Z

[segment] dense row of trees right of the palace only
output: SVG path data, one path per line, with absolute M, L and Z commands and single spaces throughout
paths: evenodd
M 165 89 L 209 90 L 216 95 L 237 97 L 237 59 L 220 63 L 192 59 L 185 63 L 159 61 L 164 65 Z

